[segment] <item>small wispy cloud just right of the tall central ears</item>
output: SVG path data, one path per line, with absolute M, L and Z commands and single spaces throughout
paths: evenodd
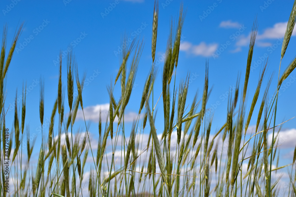
M 215 53 L 217 48 L 217 43 L 206 44 L 205 42 L 201 42 L 199 45 L 193 45 L 189 42 L 183 42 L 180 44 L 180 51 L 186 51 L 189 54 L 204 57 L 211 56 L 213 53 Z

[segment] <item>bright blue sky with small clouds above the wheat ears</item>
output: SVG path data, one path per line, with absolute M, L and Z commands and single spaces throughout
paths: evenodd
M 163 71 L 163 55 L 169 34 L 170 20 L 176 19 L 181 1 L 159 1 L 159 24 L 156 45 L 156 67 L 158 75 L 156 84 L 161 84 Z M 263 82 L 262 93 L 268 76 L 274 71 L 269 96 L 276 89 L 278 68 L 281 54 L 281 42 L 293 5 L 292 0 L 250 0 L 250 1 L 184 1 L 187 9 L 182 32 L 176 84 L 190 71 L 188 105 L 199 90 L 199 99 L 203 89 L 205 62 L 209 60 L 209 85 L 213 91 L 207 108 L 215 110 L 213 132 L 226 121 L 227 94 L 229 87 L 235 86 L 237 75 L 244 80 L 245 66 L 249 46 L 249 36 L 254 18 L 258 19 L 258 34 L 250 74 L 247 109 L 258 84 L 261 62 L 269 56 L 268 71 Z M 57 97 L 58 55 L 73 46 L 78 61 L 80 76 L 86 74 L 86 86 L 83 89 L 83 106 L 90 111 L 104 108 L 109 103 L 107 85 L 110 77 L 115 79 L 119 68 L 121 35 L 125 32 L 128 38 L 144 38 L 145 45 L 139 62 L 130 104 L 127 106 L 127 118 L 132 120 L 139 110 L 144 80 L 152 64 L 151 31 L 154 1 L 118 0 L 118 1 L 1 1 L 0 23 L 8 26 L 7 48 L 10 47 L 16 28 L 21 22 L 25 27 L 17 44 L 7 75 L 7 97 L 5 108 L 13 104 L 15 92 L 20 97 L 23 81 L 27 82 L 26 123 L 30 125 L 30 133 L 38 134 L 39 121 L 39 79 L 45 80 L 45 118 L 50 118 L 54 100 Z M 108 10 L 109 9 L 109 10 Z M 285 57 L 281 64 L 281 74 L 295 57 L 295 31 L 290 40 Z M 62 59 L 62 82 L 66 87 L 66 56 Z M 258 63 L 258 64 L 256 64 Z M 277 121 L 279 124 L 295 116 L 295 72 L 283 82 L 280 90 Z M 119 87 L 117 87 L 119 90 Z M 154 89 L 155 100 L 161 94 L 161 86 Z M 115 93 L 118 98 L 120 93 Z M 261 101 L 260 95 L 258 102 Z M 21 97 L 20 97 L 21 98 Z M 21 99 L 20 99 L 21 100 Z M 217 103 L 219 103 L 217 105 Z M 21 102 L 18 103 L 18 108 Z M 215 105 L 216 104 L 216 105 Z M 159 102 L 159 116 L 162 113 L 162 102 Z M 69 112 L 65 100 L 65 113 Z M 13 108 L 12 108 L 13 109 Z M 108 108 L 107 108 L 108 109 Z M 255 115 L 258 108 L 255 108 Z M 97 113 L 93 117 L 90 131 L 97 136 Z M 7 126 L 12 126 L 13 110 L 7 113 Z M 78 118 L 81 112 L 78 112 Z M 128 120 L 128 119 L 127 119 Z M 159 118 L 162 120 L 162 118 Z M 254 125 L 256 120 L 251 120 Z M 78 121 L 83 123 L 83 121 Z M 162 130 L 163 123 L 156 126 Z M 45 123 L 44 128 L 48 128 Z M 291 131 L 285 142 L 295 147 L 295 120 L 284 124 L 286 131 Z M 148 130 L 147 130 L 148 132 Z M 293 143 L 294 141 L 294 143 Z M 287 153 L 288 151 L 286 151 Z M 288 153 L 287 153 L 288 154 Z

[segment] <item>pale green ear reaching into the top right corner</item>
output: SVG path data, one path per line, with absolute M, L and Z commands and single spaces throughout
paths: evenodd
M 287 28 L 286 28 L 286 32 L 284 35 L 284 40 L 283 40 L 283 44 L 281 46 L 281 59 L 284 57 L 287 46 L 289 44 L 290 38 L 292 36 L 292 32 L 295 26 L 295 21 L 296 21 L 296 1 L 294 1 L 294 5 L 288 20 L 288 24 L 287 24 Z

